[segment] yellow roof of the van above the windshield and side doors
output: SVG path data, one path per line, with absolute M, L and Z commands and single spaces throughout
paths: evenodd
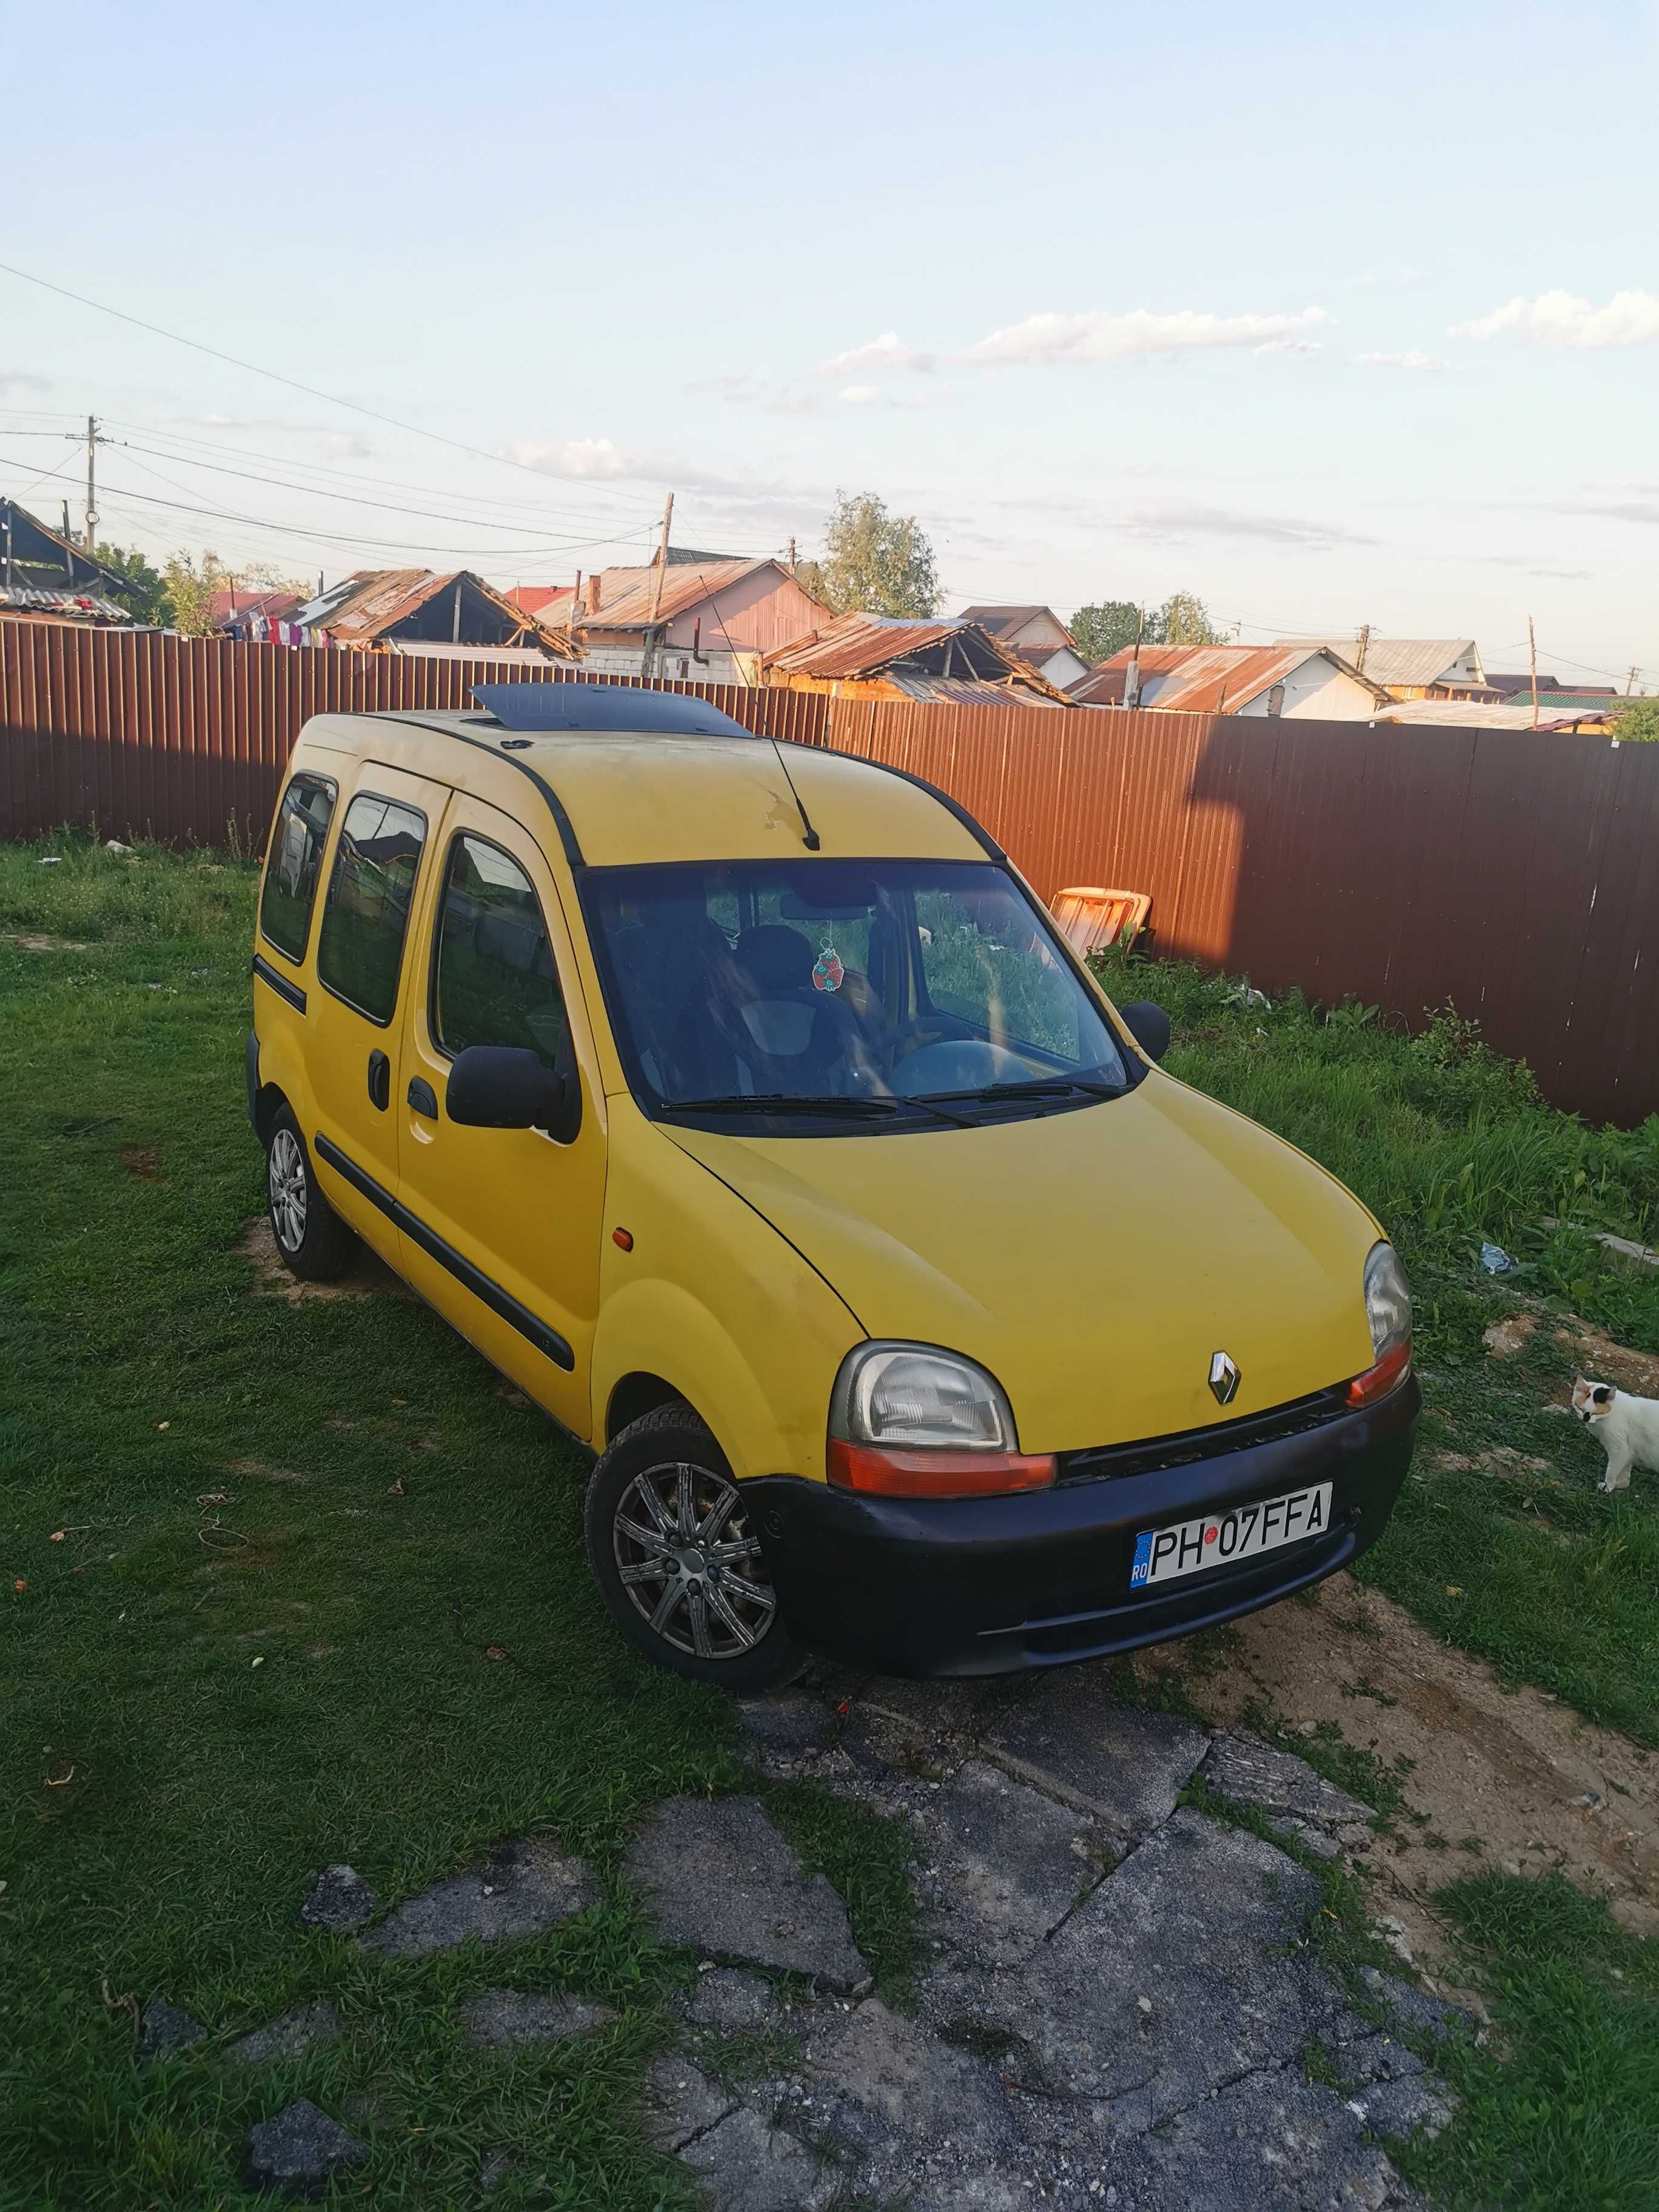
M 409 710 L 319 714 L 301 743 L 449 783 L 518 818 L 551 814 L 573 865 L 794 860 L 807 852 L 794 794 L 825 858 L 995 854 L 953 799 L 902 770 L 765 737 L 513 732 L 489 714 Z

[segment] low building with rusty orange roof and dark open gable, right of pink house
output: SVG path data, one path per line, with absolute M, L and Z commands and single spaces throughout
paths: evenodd
M 1048 677 L 960 615 L 836 615 L 768 653 L 761 684 L 836 699 L 929 699 L 947 706 L 1071 706 Z

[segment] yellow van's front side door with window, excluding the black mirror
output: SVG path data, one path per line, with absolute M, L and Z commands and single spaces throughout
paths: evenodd
M 546 858 L 515 821 L 456 794 L 422 900 L 398 1104 L 403 1270 L 566 1429 L 591 1433 L 604 1091 Z M 411 962 L 414 964 L 414 962 Z M 582 1084 L 571 1144 L 445 1115 L 469 1044 L 513 1044 Z

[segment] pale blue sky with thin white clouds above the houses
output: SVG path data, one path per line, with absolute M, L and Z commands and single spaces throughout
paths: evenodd
M 80 529 L 91 411 L 102 538 L 500 584 L 876 491 L 951 613 L 1531 615 L 1659 690 L 1657 64 L 1655 4 L 0 0 L 0 491 Z

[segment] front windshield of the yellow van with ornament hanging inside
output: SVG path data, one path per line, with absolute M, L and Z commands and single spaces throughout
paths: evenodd
M 1046 916 L 989 860 L 595 869 L 586 894 L 659 1110 L 940 1126 L 1133 1082 Z

